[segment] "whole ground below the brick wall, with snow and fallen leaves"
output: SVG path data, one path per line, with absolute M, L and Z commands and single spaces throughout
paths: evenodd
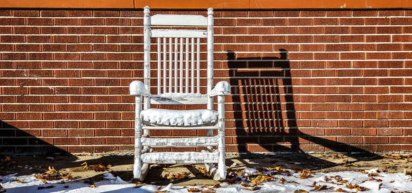
M 339 176 L 338 174 L 342 175 L 342 177 L 343 175 L 353 175 L 355 179 L 358 177 L 361 178 L 363 175 L 365 178 L 363 181 L 355 181 L 355 179 L 353 179 L 353 184 L 350 183 L 352 182 L 351 180 L 346 183 L 341 183 L 341 185 L 346 185 L 346 187 L 348 187 L 347 185 L 349 184 L 354 185 L 355 182 L 356 185 L 359 183 L 359 187 L 361 188 L 358 188 L 357 191 L 362 191 L 363 186 L 361 183 L 366 183 L 366 186 L 364 187 L 366 188 L 365 190 L 374 190 L 374 185 L 372 185 L 372 183 L 369 183 L 370 187 L 369 189 L 367 188 L 367 181 L 374 181 L 376 182 L 376 185 L 379 185 L 379 187 L 376 187 L 378 190 L 383 187 L 387 189 L 382 190 L 397 192 L 399 188 L 397 188 L 396 185 L 399 185 L 401 187 L 400 192 L 412 192 L 412 181 L 410 179 L 411 176 L 409 176 L 412 170 L 411 155 L 232 154 L 227 156 L 226 165 L 228 166 L 228 180 L 223 183 L 214 181 L 207 177 L 207 175 L 204 174 L 202 165 L 153 165 L 152 168 L 150 168 L 146 181 L 134 182 L 131 181 L 133 178 L 133 156 L 131 155 L 57 155 L 48 157 L 7 157 L 3 155 L 2 158 L 3 161 L 0 164 L 0 179 L 3 180 L 1 185 L 3 185 L 3 188 L 5 188 L 7 192 L 19 190 L 13 189 L 15 188 L 14 186 L 25 186 L 25 184 L 32 185 L 32 188 L 47 187 L 49 184 L 50 187 L 51 185 L 57 187 L 57 183 L 62 183 L 61 181 L 65 181 L 65 184 L 70 184 L 71 187 L 76 187 L 79 191 L 82 190 L 82 188 L 89 188 L 90 186 L 93 187 L 93 185 L 100 186 L 100 189 L 91 189 L 95 192 L 106 192 L 106 190 L 102 190 L 102 187 L 110 184 L 117 184 L 118 186 L 124 185 L 126 188 L 124 190 L 130 188 L 130 185 L 133 185 L 133 187 L 144 187 L 135 188 L 134 190 L 136 191 L 146 191 L 147 189 L 146 192 L 152 192 L 155 190 L 157 192 L 173 192 L 170 189 L 170 183 L 172 183 L 173 187 L 181 187 L 182 190 L 185 189 L 187 192 L 190 192 L 190 190 L 194 192 L 196 192 L 196 190 L 202 190 L 203 192 L 205 192 L 205 190 L 211 190 L 211 192 L 225 192 L 227 188 L 230 189 L 235 187 L 238 188 L 233 189 L 233 191 L 229 191 L 228 189 L 226 192 L 239 192 L 239 190 L 240 192 L 249 192 L 249 190 L 265 192 L 264 190 L 270 186 L 269 184 L 275 182 L 277 185 L 273 185 L 274 187 L 280 187 L 289 183 L 289 186 L 284 186 L 286 189 L 283 191 L 282 188 L 279 189 L 280 192 L 284 192 L 286 190 L 291 192 L 304 192 L 312 189 L 320 192 L 339 192 L 339 188 L 341 187 L 339 186 L 339 179 L 334 179 L 335 181 L 332 181 L 332 177 Z M 53 170 L 53 168 L 55 170 Z M 245 170 L 245 168 L 252 169 Z M 34 174 L 38 174 L 37 178 L 33 177 Z M 47 176 L 47 174 L 58 174 L 58 178 L 60 179 L 57 179 L 58 181 L 52 181 L 53 179 L 47 179 L 47 177 L 51 177 Z M 69 177 L 67 177 L 67 174 L 70 174 Z M 54 177 L 56 177 L 56 175 L 54 175 Z M 67 177 L 67 179 L 61 179 L 61 177 Z M 116 177 L 119 178 L 116 179 Z M 295 177 L 296 179 L 292 180 L 290 177 Z M 382 177 L 383 179 L 379 179 L 379 177 Z M 402 181 L 402 183 L 393 183 L 394 180 L 389 180 L 386 178 L 398 179 L 399 181 Z M 69 179 L 71 182 L 69 182 Z M 329 179 L 331 179 L 331 181 L 329 181 Z M 128 181 L 128 183 L 124 181 Z M 378 183 L 380 181 L 382 181 L 383 186 Z M 385 181 L 387 181 L 388 184 L 385 184 Z M 16 182 L 19 184 L 16 184 Z M 322 182 L 327 184 L 324 186 L 319 185 Z M 293 183 L 305 184 L 305 186 L 294 185 Z M 407 186 L 403 183 L 407 184 Z M 402 189 L 402 187 L 409 187 L 408 185 L 411 186 L 411 190 Z M 64 184 L 60 186 L 65 187 Z M 203 189 L 201 189 L 202 186 Z M 218 188 L 219 186 L 221 186 L 221 188 Z M 342 187 L 343 188 L 341 188 L 341 190 L 343 190 L 343 192 L 345 190 L 351 190 L 350 186 L 349 189 L 345 189 L 345 186 Z M 113 189 L 113 187 L 110 188 Z M 164 190 L 161 190 L 162 188 Z M 306 188 L 306 190 L 304 188 Z M 42 189 L 43 188 L 38 191 L 42 191 Z M 44 191 L 50 192 L 52 190 L 54 189 L 51 188 Z M 273 189 L 267 190 L 269 192 L 278 192 Z M 64 188 L 60 188 L 54 191 L 73 192 L 73 189 L 67 188 L 65 190 Z M 117 189 L 111 190 L 111 192 L 113 191 L 119 192 Z M 354 189 L 354 192 L 356 192 L 356 189 Z

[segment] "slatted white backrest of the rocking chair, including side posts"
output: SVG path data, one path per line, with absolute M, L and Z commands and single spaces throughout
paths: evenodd
M 152 26 L 162 28 L 151 29 Z M 207 30 L 193 30 L 194 27 L 207 27 Z M 155 56 L 157 95 L 169 98 L 174 96 L 205 97 L 202 89 L 205 85 L 201 83 L 207 82 L 207 93 L 213 88 L 213 27 L 213 9 L 211 8 L 208 9 L 207 17 L 173 14 L 150 16 L 150 10 L 146 6 L 144 8 L 144 84 L 146 89 L 150 91 L 150 60 L 152 60 L 150 56 Z M 207 81 L 201 80 L 201 38 L 207 38 Z M 151 49 L 152 41 L 157 43 L 157 46 Z M 150 55 L 150 51 L 155 49 L 156 54 Z M 155 73 L 152 75 L 155 76 Z

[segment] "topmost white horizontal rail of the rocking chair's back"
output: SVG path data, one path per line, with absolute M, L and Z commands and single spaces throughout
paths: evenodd
M 157 14 L 151 16 L 151 19 L 152 25 L 207 25 L 207 18 L 201 15 Z

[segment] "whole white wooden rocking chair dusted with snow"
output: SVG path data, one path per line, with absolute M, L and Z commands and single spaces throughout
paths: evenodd
M 150 16 L 149 13 L 150 10 L 146 6 L 144 8 L 144 83 L 138 80 L 130 83 L 130 95 L 135 95 L 136 104 L 133 176 L 143 181 L 150 163 L 205 163 L 213 179 L 224 180 L 226 178 L 225 95 L 230 94 L 230 84 L 222 81 L 218 82 L 216 87 L 213 85 L 213 9 L 207 10 L 207 17 L 171 14 Z M 152 30 L 151 25 L 163 27 L 166 25 L 168 28 Z M 170 27 L 174 26 L 203 26 L 207 27 L 207 30 L 181 30 L 181 28 L 170 30 Z M 151 38 L 157 38 L 157 55 L 156 52 L 152 55 L 157 56 L 156 95 L 150 93 Z M 207 38 L 207 81 L 201 78 L 200 38 Z M 207 93 L 201 93 L 201 90 L 205 89 L 204 85 L 201 86 L 201 82 L 207 82 Z M 214 96 L 218 98 L 218 111 L 213 110 Z M 144 98 L 144 110 L 141 110 L 142 98 Z M 207 104 L 207 109 L 180 111 L 150 109 L 150 104 Z M 150 138 L 151 129 L 207 129 L 208 131 L 207 137 Z M 218 135 L 214 135 L 214 129 L 218 130 Z M 213 146 L 217 146 L 217 150 L 214 150 Z M 152 147 L 206 147 L 207 150 L 153 152 Z M 218 163 L 217 169 L 214 168 L 213 163 Z

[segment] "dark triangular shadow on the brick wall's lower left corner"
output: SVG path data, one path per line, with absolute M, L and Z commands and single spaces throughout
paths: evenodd
M 40 132 L 40 131 L 39 131 Z M 10 155 L 70 155 L 69 152 L 0 120 L 0 150 Z

